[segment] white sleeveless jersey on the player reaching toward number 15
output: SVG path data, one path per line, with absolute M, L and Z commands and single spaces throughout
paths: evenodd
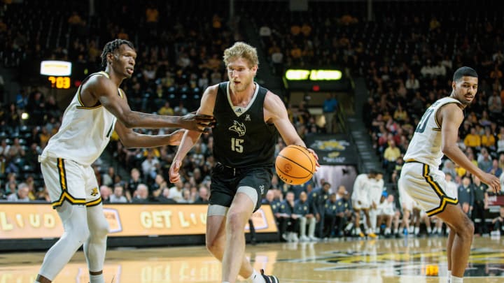
M 110 78 L 108 73 L 102 71 L 91 74 L 87 79 L 93 75 Z M 43 157 L 69 159 L 90 166 L 109 143 L 117 119 L 102 104 L 83 106 L 80 101 L 81 87 L 82 85 L 78 87 L 76 95 L 66 108 L 59 131 L 50 138 L 43 150 Z M 118 95 L 123 97 L 120 89 Z

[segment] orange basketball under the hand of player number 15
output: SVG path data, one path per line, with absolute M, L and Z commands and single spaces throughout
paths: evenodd
M 304 184 L 311 179 L 316 160 L 306 148 L 299 145 L 284 147 L 276 157 L 276 175 L 286 184 Z

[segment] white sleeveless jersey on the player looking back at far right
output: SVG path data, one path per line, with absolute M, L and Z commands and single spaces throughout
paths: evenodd
M 404 157 L 405 161 L 418 161 L 439 168 L 444 154 L 441 151 L 441 125 L 437 121 L 436 113 L 441 106 L 448 103 L 461 104 L 456 99 L 444 97 L 427 108 L 416 126 Z

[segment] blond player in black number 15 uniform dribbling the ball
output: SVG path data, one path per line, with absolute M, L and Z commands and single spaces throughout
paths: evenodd
M 229 81 L 207 88 L 197 110 L 216 118 L 214 157 L 218 163 L 211 176 L 207 248 L 223 263 L 223 283 L 236 282 L 238 275 L 249 283 L 279 282 L 275 276 L 253 270 L 244 256 L 244 228 L 271 187 L 278 133 L 286 145 L 306 145 L 290 124 L 279 96 L 253 82 L 258 70 L 255 48 L 235 43 L 225 50 L 224 62 Z M 183 158 L 200 134 L 187 131 L 183 136 L 169 170 L 170 182 L 179 180 Z

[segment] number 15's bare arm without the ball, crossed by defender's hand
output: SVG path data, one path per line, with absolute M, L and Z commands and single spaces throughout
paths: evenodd
M 199 115 L 214 115 L 214 106 L 216 101 L 218 85 L 213 85 L 205 90 L 202 101 L 200 103 L 200 108 L 197 110 Z M 179 150 L 177 150 L 172 166 L 169 168 L 169 180 L 174 183 L 180 179 L 179 170 L 182 166 L 182 161 L 186 157 L 187 153 L 195 145 L 198 138 L 200 138 L 201 133 L 199 131 L 186 131 L 179 145 Z

